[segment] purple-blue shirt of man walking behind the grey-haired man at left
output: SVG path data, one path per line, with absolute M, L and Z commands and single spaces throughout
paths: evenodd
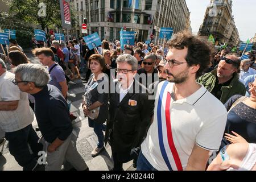
M 51 65 L 51 67 L 48 68 L 48 71 L 53 67 L 53 65 Z M 61 91 L 61 86 L 59 82 L 66 81 L 66 78 L 65 78 L 65 73 L 63 69 L 60 67 L 60 65 L 57 65 L 56 67 L 54 67 L 51 73 L 49 73 L 49 76 L 50 76 L 50 80 L 48 84 L 56 86 Z

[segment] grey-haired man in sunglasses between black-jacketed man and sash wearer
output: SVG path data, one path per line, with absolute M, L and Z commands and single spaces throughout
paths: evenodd
M 156 55 L 150 54 L 144 57 L 142 61 L 142 67 L 138 70 L 139 82 L 148 86 L 158 80 L 158 71 L 155 69 Z

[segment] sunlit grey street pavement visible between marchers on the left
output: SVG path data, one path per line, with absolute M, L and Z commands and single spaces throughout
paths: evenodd
M 30 52 L 26 55 L 31 60 L 31 63 L 39 63 Z M 83 75 L 81 75 L 83 76 Z M 73 121 L 74 132 L 77 134 L 77 150 L 82 158 L 85 160 L 90 171 L 109 171 L 113 168 L 112 152 L 109 144 L 105 146 L 105 149 L 100 152 L 96 157 L 92 157 L 90 153 L 93 148 L 97 146 L 97 136 L 93 129 L 88 126 L 88 118 L 84 117 L 82 112 L 82 96 L 84 93 L 84 86 L 81 80 L 71 81 L 68 84 L 68 102 L 71 102 L 71 113 L 77 116 Z M 36 128 L 37 122 L 34 119 L 32 123 Z M 37 132 L 40 137 L 40 131 Z M 134 171 L 133 161 L 123 164 L 123 169 L 127 171 Z M 8 142 L 6 141 L 3 146 L 0 147 L 0 171 L 20 171 L 22 167 L 15 161 L 14 157 L 10 154 L 8 148 Z

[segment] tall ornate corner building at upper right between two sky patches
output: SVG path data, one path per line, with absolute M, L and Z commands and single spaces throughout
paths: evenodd
M 216 45 L 227 43 L 235 46 L 240 38 L 234 16 L 232 15 L 232 0 L 211 0 L 200 26 L 199 35 L 213 35 Z

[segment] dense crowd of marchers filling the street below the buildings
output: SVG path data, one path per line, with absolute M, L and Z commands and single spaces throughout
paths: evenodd
M 66 162 L 89 170 L 67 104 L 75 79 L 86 82 L 83 116 L 98 139 L 92 156 L 109 143 L 113 171 L 130 160 L 142 171 L 255 170 L 255 53 L 242 59 L 243 52 L 216 50 L 188 32 L 162 45 L 103 40 L 91 50 L 84 39 L 51 35 L 47 47 L 33 50 L 40 65 L 10 42 L 9 55 L 0 55 L 0 145 L 9 141 L 24 170 L 60 170 Z M 42 150 L 46 164 L 37 162 Z

